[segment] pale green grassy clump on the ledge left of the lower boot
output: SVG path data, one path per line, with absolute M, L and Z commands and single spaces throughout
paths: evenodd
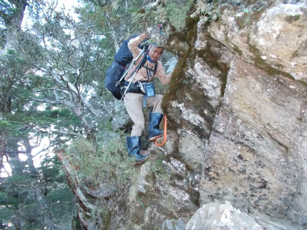
M 69 147 L 67 155 L 89 187 L 97 186 L 101 181 L 112 181 L 121 190 L 136 175 L 133 162 L 127 157 L 125 139 L 121 136 L 97 145 L 78 139 Z

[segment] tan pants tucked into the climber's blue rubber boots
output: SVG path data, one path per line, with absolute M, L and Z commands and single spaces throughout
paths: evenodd
M 146 98 L 146 107 L 153 107 L 152 112 L 162 113 L 161 103 L 163 95 L 156 94 L 156 97 Z M 131 136 L 141 136 L 145 127 L 145 119 L 143 114 L 143 95 L 135 93 L 126 93 L 124 103 L 127 112 L 134 122 Z

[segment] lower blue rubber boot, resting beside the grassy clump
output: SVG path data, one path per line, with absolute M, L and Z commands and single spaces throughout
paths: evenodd
M 135 158 L 136 163 L 141 163 L 149 157 L 148 154 L 140 154 L 141 150 L 141 138 L 140 136 L 129 136 L 126 139 L 128 155 L 131 158 Z

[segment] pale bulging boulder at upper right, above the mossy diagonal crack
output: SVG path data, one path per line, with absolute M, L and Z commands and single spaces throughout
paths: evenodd
M 258 13 L 262 8 L 267 9 Z M 306 3 L 258 1 L 245 9 L 248 13 L 225 9 L 221 20 L 209 27 L 210 35 L 245 61 L 307 82 Z M 248 26 L 247 20 L 252 21 Z

